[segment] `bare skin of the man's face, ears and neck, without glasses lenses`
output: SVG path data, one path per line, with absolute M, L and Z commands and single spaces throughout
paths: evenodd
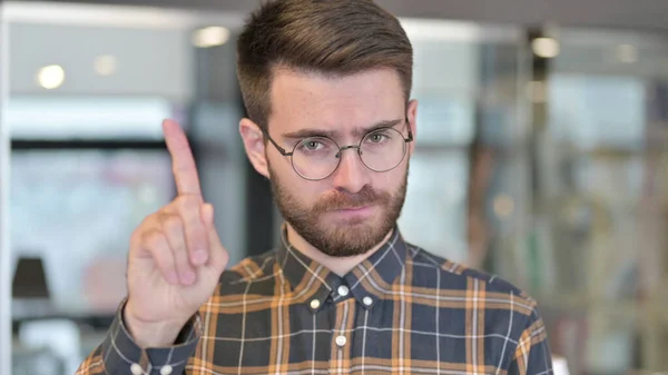
M 322 129 L 332 132 L 341 146 L 356 145 L 364 135 L 362 129 L 384 120 L 402 120 L 406 115 L 415 135 L 418 102 L 410 101 L 405 111 L 401 81 L 390 69 L 340 78 L 282 70 L 275 76 L 268 132 L 279 146 L 288 150 L 295 144 L 286 137 L 288 134 Z M 405 120 L 396 125 L 395 129 L 407 137 Z M 377 250 L 391 235 L 405 198 L 407 166 L 414 142 L 409 144 L 403 161 L 390 171 L 375 172 L 366 168 L 353 150 L 346 150 L 333 175 L 312 181 L 294 171 L 288 157 L 283 156 L 273 145 L 265 144 L 256 124 L 244 119 L 239 130 L 255 169 L 272 180 L 274 190 L 283 193 L 275 198 L 284 217 L 291 216 L 286 211 L 303 211 L 316 205 L 326 206 L 332 200 L 354 201 L 355 195 L 364 189 L 375 191 L 375 199 L 371 199 L 370 207 L 362 213 L 328 210 L 310 218 L 311 226 L 307 227 L 317 228 L 317 231 L 324 234 L 324 241 L 333 245 L 327 250 L 323 246 L 314 246 L 314 241 L 307 240 L 308 236 L 303 230 L 297 230 L 297 226 L 287 220 L 287 237 L 296 249 L 334 273 L 344 275 Z M 344 234 L 337 236 L 337 231 Z M 360 243 L 363 243 L 363 247 L 354 248 Z

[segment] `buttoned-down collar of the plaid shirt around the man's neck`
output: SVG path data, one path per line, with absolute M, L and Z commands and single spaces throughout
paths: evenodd
M 401 274 L 406 255 L 406 244 L 396 226 L 381 248 L 343 277 L 294 248 L 287 241 L 285 225 L 277 249 L 278 265 L 294 298 L 306 303 L 312 310 L 320 309 L 328 297 L 337 302 L 350 295 L 362 306 L 373 307 Z

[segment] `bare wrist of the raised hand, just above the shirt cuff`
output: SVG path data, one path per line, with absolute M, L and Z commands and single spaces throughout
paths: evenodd
M 122 310 L 122 320 L 130 337 L 140 348 L 174 346 L 186 322 L 149 322 L 131 313 L 130 302 Z

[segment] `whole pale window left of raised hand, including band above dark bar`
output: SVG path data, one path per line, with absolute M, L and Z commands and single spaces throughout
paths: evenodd
M 159 97 L 10 98 L 12 259 L 40 258 L 49 288 L 16 319 L 115 312 L 131 231 L 174 197 L 160 124 L 175 115 Z

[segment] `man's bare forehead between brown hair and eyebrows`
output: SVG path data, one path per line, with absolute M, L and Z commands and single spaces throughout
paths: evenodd
M 348 132 L 405 115 L 401 80 L 392 69 L 336 77 L 278 70 L 271 96 L 269 124 L 277 132 L 308 127 Z

